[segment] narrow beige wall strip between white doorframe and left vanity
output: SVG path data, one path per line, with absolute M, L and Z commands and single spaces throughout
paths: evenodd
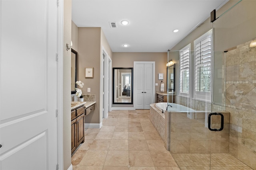
M 66 43 L 71 41 L 71 0 L 64 0 L 63 30 L 63 168 L 71 165 L 71 49 L 66 50 Z

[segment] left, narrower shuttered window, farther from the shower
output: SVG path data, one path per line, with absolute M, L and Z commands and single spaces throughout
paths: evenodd
M 180 50 L 180 95 L 189 94 L 190 44 Z

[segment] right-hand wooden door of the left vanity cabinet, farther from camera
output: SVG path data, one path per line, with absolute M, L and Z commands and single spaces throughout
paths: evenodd
M 82 114 L 78 118 L 76 118 L 77 146 L 80 145 L 80 143 L 84 143 L 84 117 L 85 117 L 85 115 Z

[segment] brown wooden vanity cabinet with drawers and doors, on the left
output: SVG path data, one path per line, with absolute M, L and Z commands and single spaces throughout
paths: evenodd
M 84 105 L 71 111 L 71 154 L 84 143 Z

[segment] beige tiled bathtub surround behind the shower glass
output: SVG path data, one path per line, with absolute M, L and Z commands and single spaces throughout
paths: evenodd
M 161 113 L 150 104 L 150 121 L 160 134 L 167 150 L 172 153 L 228 153 L 230 113 L 224 115 L 224 129 L 210 131 L 208 114 L 202 113 Z M 212 116 L 212 129 L 220 129 L 220 116 Z

